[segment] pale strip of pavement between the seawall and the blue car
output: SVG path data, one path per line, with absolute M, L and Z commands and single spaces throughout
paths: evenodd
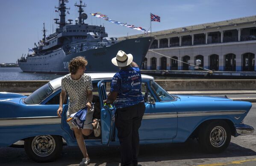
M 199 95 L 199 96 L 225 96 L 235 101 L 256 102 L 256 90 L 205 90 L 205 91 L 168 91 L 170 94 Z M 31 93 L 20 93 L 29 96 Z

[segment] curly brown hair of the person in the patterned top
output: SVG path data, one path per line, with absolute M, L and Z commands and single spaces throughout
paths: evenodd
M 82 56 L 78 56 L 76 58 L 73 58 L 69 64 L 68 64 L 68 70 L 69 73 L 71 74 L 76 74 L 77 70 L 80 66 L 84 67 L 88 64 L 88 61 L 82 57 Z

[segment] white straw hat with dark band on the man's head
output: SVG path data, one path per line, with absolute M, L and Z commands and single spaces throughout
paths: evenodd
M 126 67 L 132 63 L 132 54 L 126 54 L 124 51 L 119 50 L 116 57 L 112 58 L 112 63 L 118 67 Z

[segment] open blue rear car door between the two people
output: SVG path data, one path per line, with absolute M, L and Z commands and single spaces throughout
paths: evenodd
M 100 82 L 98 82 L 97 87 L 99 91 L 101 108 L 101 141 L 102 144 L 109 146 L 109 143 L 115 133 L 115 107 L 113 105 L 103 104 L 103 100 L 107 99 L 106 81 L 101 80 Z

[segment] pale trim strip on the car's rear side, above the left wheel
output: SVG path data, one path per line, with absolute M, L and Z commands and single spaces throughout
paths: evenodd
M 39 117 L 18 117 L 18 118 L 1 118 L 1 126 L 17 126 L 17 125 L 47 125 L 61 124 L 61 118 L 58 116 L 39 116 Z

